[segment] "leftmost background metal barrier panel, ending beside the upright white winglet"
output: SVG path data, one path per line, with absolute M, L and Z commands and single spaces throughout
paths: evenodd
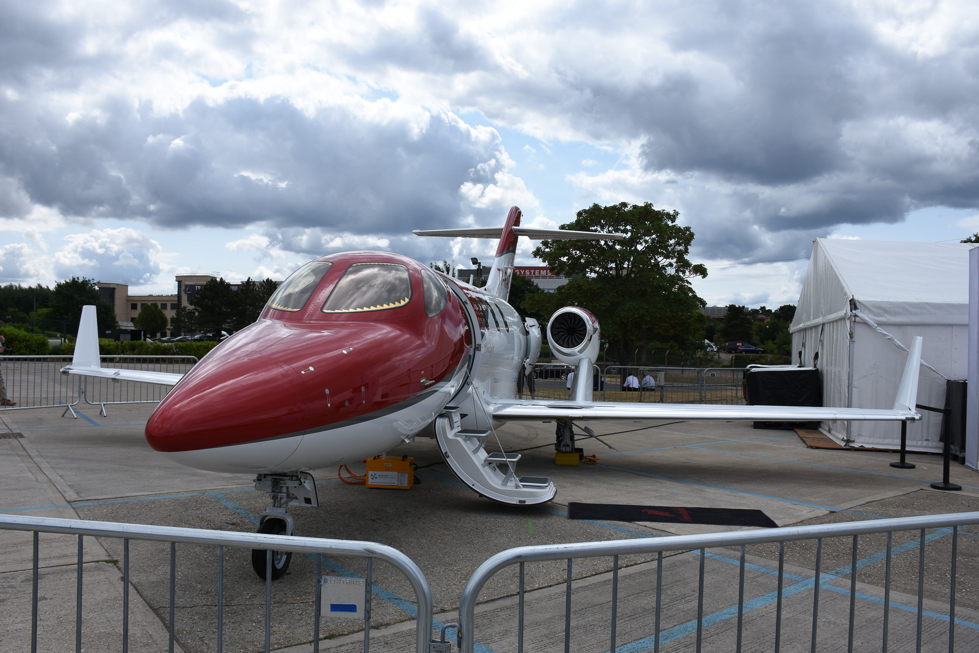
M 78 380 L 60 373 L 71 356 L 0 356 L 6 398 L 3 410 L 66 407 L 78 402 Z

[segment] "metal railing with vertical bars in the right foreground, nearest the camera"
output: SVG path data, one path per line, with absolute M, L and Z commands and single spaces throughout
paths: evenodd
M 659 651 L 661 644 L 666 644 L 678 636 L 696 634 L 696 650 L 702 648 L 704 630 L 714 624 L 721 624 L 727 620 L 733 621 L 736 618 L 736 639 L 730 636 L 733 624 L 726 630 L 727 638 L 723 637 L 716 643 L 723 643 L 723 650 L 734 650 L 740 653 L 746 634 L 745 622 L 746 614 L 754 612 L 752 617 L 755 621 L 750 625 L 752 628 L 747 630 L 751 638 L 750 644 L 744 644 L 745 650 L 773 650 L 776 653 L 782 648 L 791 650 L 813 650 L 820 641 L 824 642 L 826 637 L 820 639 L 820 625 L 823 630 L 830 630 L 830 636 L 844 636 L 847 632 L 847 650 L 852 653 L 855 650 L 855 624 L 858 616 L 858 599 L 860 599 L 860 617 L 872 621 L 874 629 L 879 631 L 873 634 L 882 638 L 883 650 L 888 650 L 888 637 L 892 623 L 897 615 L 907 615 L 907 619 L 900 624 L 900 637 L 902 643 L 910 643 L 909 638 L 913 631 L 916 638 L 915 650 L 920 651 L 922 643 L 922 633 L 926 630 L 929 641 L 932 644 L 929 650 L 956 650 L 956 624 L 964 625 L 970 635 L 970 641 L 962 642 L 959 650 L 973 651 L 979 647 L 979 639 L 975 636 L 975 630 L 979 625 L 971 622 L 959 624 L 962 620 L 956 619 L 956 561 L 958 550 L 958 535 L 961 527 L 979 523 L 979 512 L 957 513 L 949 515 L 932 515 L 924 517 L 907 517 L 900 519 L 881 519 L 865 522 L 850 522 L 842 524 L 827 524 L 816 526 L 803 526 L 791 528 L 778 528 L 770 530 L 739 531 L 729 533 L 714 533 L 709 535 L 689 535 L 689 536 L 666 536 L 666 537 L 640 537 L 636 539 L 594 541 L 568 544 L 548 544 L 538 546 L 521 546 L 512 548 L 501 553 L 497 553 L 484 562 L 470 577 L 462 592 L 462 599 L 459 605 L 459 623 L 461 624 L 461 650 L 462 653 L 474 653 L 476 636 L 479 634 L 481 644 L 489 646 L 494 650 L 504 650 L 508 648 L 501 642 L 493 641 L 487 636 L 487 632 L 478 632 L 479 625 L 476 623 L 476 604 L 480 590 L 500 570 L 511 565 L 519 565 L 519 588 L 516 606 L 516 629 L 512 628 L 512 622 L 507 622 L 503 629 L 506 631 L 508 640 L 512 639 L 514 630 L 516 631 L 517 653 L 523 653 L 525 642 L 525 583 L 527 577 L 527 566 L 534 563 L 545 563 L 545 561 L 567 561 L 567 575 L 564 593 L 564 651 L 568 653 L 572 647 L 576 650 L 608 650 L 617 651 L 617 627 L 623 626 L 629 629 L 629 644 L 625 645 L 625 650 L 630 651 Z M 930 533 L 928 533 L 930 531 Z M 895 534 L 911 532 L 910 537 L 905 541 L 896 542 Z M 964 533 L 964 532 L 963 532 Z M 883 540 L 886 536 L 886 548 L 875 552 L 873 555 L 860 557 L 861 536 L 873 537 L 879 535 L 878 539 Z M 975 535 L 975 534 L 966 534 Z M 951 554 L 946 560 L 936 560 L 933 556 L 926 567 L 925 564 L 925 545 L 928 541 L 933 541 L 939 537 L 951 536 Z M 840 541 L 830 538 L 846 537 Z M 827 544 L 824 547 L 824 540 L 829 539 L 833 545 Z M 793 559 L 799 558 L 800 551 L 806 554 L 813 554 L 815 541 L 815 560 L 812 568 L 800 568 L 794 565 L 791 572 L 786 572 L 786 544 L 795 548 L 791 551 Z M 865 541 L 865 540 L 864 540 Z M 773 558 L 777 550 L 777 567 L 774 560 L 770 560 L 768 567 L 762 564 L 746 565 L 746 547 L 749 545 L 769 545 L 769 558 Z M 806 545 L 807 548 L 799 548 Z M 883 547 L 883 541 L 874 542 L 874 545 Z M 731 555 L 731 551 L 725 547 L 740 547 L 738 558 Z M 777 548 L 776 548 L 777 547 Z M 914 565 L 909 565 L 905 561 L 900 566 L 892 565 L 894 557 L 905 551 L 917 548 L 916 574 L 909 572 L 909 567 L 913 570 Z M 714 549 L 710 551 L 709 549 Z M 737 550 L 737 549 L 735 549 Z M 664 579 L 664 553 L 667 552 L 689 552 L 696 556 L 697 578 L 694 580 L 690 576 L 685 578 Z M 652 572 L 642 578 L 641 583 L 632 583 L 627 587 L 629 602 L 632 606 L 637 606 L 637 614 L 631 615 L 631 619 L 620 620 L 619 613 L 619 590 L 620 590 L 620 569 L 625 567 L 620 562 L 621 556 L 645 556 L 650 559 L 650 554 L 655 554 L 656 573 L 655 580 Z M 726 554 L 726 555 L 725 555 Z M 849 554 L 849 555 L 848 555 Z M 582 558 L 611 558 L 611 596 L 606 602 L 602 594 L 601 598 L 596 597 L 597 585 L 594 582 L 586 583 L 583 591 L 579 594 L 580 601 L 588 603 L 588 617 L 594 616 L 599 622 L 597 626 L 593 624 L 583 624 L 576 622 L 576 628 L 572 629 L 572 580 L 573 580 L 573 561 Z M 768 561 L 769 558 L 766 558 Z M 836 559 L 836 562 L 834 561 Z M 707 598 L 711 604 L 717 604 L 715 598 L 721 596 L 726 606 L 723 610 L 705 616 L 705 563 L 711 560 L 711 583 L 707 588 Z M 650 564 L 651 564 L 650 560 Z M 830 568 L 832 565 L 843 562 L 844 564 L 831 571 L 823 571 L 823 566 Z M 827 564 L 829 563 L 829 564 Z M 875 568 L 877 576 L 882 578 L 883 587 L 879 592 L 870 595 L 876 589 L 867 589 L 861 586 L 858 591 L 858 576 L 861 570 L 871 565 L 883 566 L 885 569 Z M 750 584 L 745 583 L 746 566 L 753 577 Z M 594 565 L 592 563 L 591 568 Z M 808 564 L 805 566 L 808 567 Z M 686 569 L 691 575 L 694 564 L 686 568 L 674 567 L 672 569 Z M 905 576 L 911 575 L 913 582 L 917 586 L 917 605 L 916 608 L 908 604 L 899 604 L 896 601 L 892 604 L 892 578 L 900 572 L 909 572 Z M 925 574 L 931 576 L 929 579 L 929 590 L 935 583 L 942 583 L 947 579 L 945 589 L 948 596 L 948 610 L 945 614 L 940 614 L 933 609 L 925 610 Z M 552 570 L 553 571 L 553 570 Z M 869 569 L 863 572 L 868 574 Z M 757 573 L 762 572 L 762 573 Z M 881 573 L 882 572 L 882 573 Z M 846 577 L 849 576 L 849 579 Z M 788 579 L 789 585 L 785 581 Z M 772 583 L 772 581 L 776 583 Z M 848 580 L 849 583 L 841 583 Z M 593 580 L 592 580 L 593 581 Z M 696 587 L 694 587 L 696 583 Z M 775 587 L 771 585 L 775 584 Z M 905 583 L 907 586 L 909 583 Z M 734 588 L 737 588 L 736 602 L 733 600 Z M 772 591 L 773 589 L 773 591 Z M 498 588 L 497 588 L 498 590 Z M 823 590 L 821 607 L 823 619 L 820 621 L 820 590 Z M 811 593 L 809 605 L 806 609 L 805 604 L 800 604 L 800 600 L 805 600 L 803 592 Z M 835 600 L 830 603 L 827 596 L 837 597 L 842 595 L 848 600 Z M 696 600 L 694 601 L 694 597 Z M 728 601 L 728 597 L 731 600 Z M 783 619 L 785 602 L 789 597 L 792 599 L 791 611 Z M 554 633 L 554 617 L 558 612 L 557 600 L 554 595 L 553 600 L 543 607 L 544 615 L 542 618 L 535 616 L 534 622 L 540 627 L 541 620 L 546 622 L 547 641 L 557 639 Z M 733 603 L 733 605 L 731 605 Z M 694 604 L 696 607 L 694 607 Z M 536 605 L 536 603 L 535 603 Z M 768 607 L 766 611 L 759 610 L 761 607 Z M 895 612 L 898 610 L 898 612 Z M 636 612 L 636 610 L 633 610 Z M 772 619 L 771 612 L 774 612 Z M 760 613 L 765 613 L 759 616 Z M 806 614 L 809 613 L 809 614 Z M 893 613 L 893 614 L 892 614 Z M 915 622 L 910 621 L 910 614 L 916 617 Z M 491 611 L 492 618 L 485 623 L 489 628 L 492 626 L 500 630 L 503 615 L 498 611 Z M 605 626 L 604 616 L 608 615 L 607 630 L 602 630 Z M 579 615 L 581 617 L 581 615 Z M 923 620 L 927 618 L 928 624 L 923 625 Z M 549 620 L 549 621 L 547 621 Z M 938 622 L 936 625 L 934 622 Z M 649 630 L 637 630 L 636 622 L 641 622 L 638 628 L 649 628 Z M 943 627 L 942 622 L 947 622 L 948 626 Z M 864 622 L 865 623 L 865 622 Z M 844 630 L 844 625 L 847 626 Z M 548 628 L 549 627 L 549 628 Z M 858 627 L 859 628 L 859 627 Z M 596 631 L 601 630 L 601 632 Z M 871 635 L 867 631 L 858 632 L 857 648 L 859 650 L 875 650 L 879 644 L 870 644 Z M 943 633 L 944 630 L 944 633 Z M 648 634 L 647 634 L 648 633 Z M 663 633 L 670 633 L 664 637 Z M 596 641 L 596 637 L 604 634 L 604 642 L 601 639 Z M 936 637 L 947 637 L 948 648 L 945 648 L 945 641 L 936 642 Z M 899 637 L 892 639 L 892 645 Z M 536 633 L 536 639 L 540 635 Z M 588 641 L 583 641 L 588 639 Z M 605 642 L 610 648 L 605 649 Z M 554 643 L 557 643 L 554 641 Z M 512 645 L 512 641 L 508 641 Z M 935 644 L 941 644 L 936 646 Z M 833 650 L 843 650 L 842 641 L 824 643 Z M 596 648 L 601 646 L 601 648 Z M 533 648 L 533 646 L 532 646 Z M 904 648 L 910 648 L 905 646 Z M 509 649 L 512 650 L 512 649 Z M 622 650 L 622 647 L 619 648 Z M 671 649 L 676 650 L 676 649 Z M 827 649 L 828 650 L 828 649 Z

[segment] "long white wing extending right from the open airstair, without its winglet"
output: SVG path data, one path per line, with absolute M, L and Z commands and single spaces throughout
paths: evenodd
M 824 408 L 821 406 L 731 406 L 708 403 L 639 403 L 631 401 L 527 401 L 496 404 L 493 419 L 744 419 L 760 422 L 829 420 L 894 421 L 921 416 L 904 408 Z

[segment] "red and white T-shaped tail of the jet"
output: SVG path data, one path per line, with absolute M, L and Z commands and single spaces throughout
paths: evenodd
M 447 238 L 498 238 L 496 257 L 489 270 L 486 290 L 504 302 L 510 296 L 513 279 L 513 258 L 517 253 L 517 239 L 527 236 L 531 240 L 620 240 L 626 234 L 607 234 L 595 231 L 571 231 L 570 229 L 538 229 L 520 226 L 521 211 L 511 207 L 502 227 L 466 227 L 464 229 L 415 229 L 416 236 L 444 236 Z

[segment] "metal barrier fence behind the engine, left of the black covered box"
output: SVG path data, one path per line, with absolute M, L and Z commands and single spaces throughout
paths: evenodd
M 626 367 L 595 365 L 592 397 L 595 401 L 650 401 L 659 403 L 717 403 L 744 405 L 740 367 Z M 536 396 L 545 399 L 568 398 L 570 365 L 538 363 L 535 366 Z M 626 380 L 634 376 L 638 389 L 627 390 Z M 647 376 L 652 379 L 649 382 Z

